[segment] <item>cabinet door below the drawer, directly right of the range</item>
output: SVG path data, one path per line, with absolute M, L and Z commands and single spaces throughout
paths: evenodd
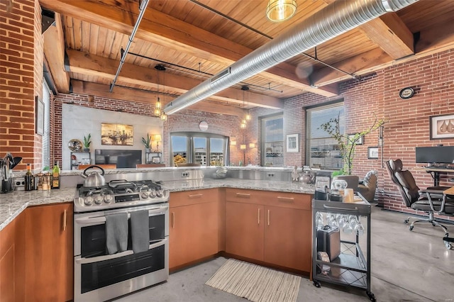
M 170 208 L 170 268 L 218 252 L 218 217 L 216 201 Z

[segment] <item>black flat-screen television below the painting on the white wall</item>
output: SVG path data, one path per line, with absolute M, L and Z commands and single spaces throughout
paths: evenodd
M 135 168 L 142 163 L 142 150 L 94 150 L 95 164 L 116 164 L 118 169 Z

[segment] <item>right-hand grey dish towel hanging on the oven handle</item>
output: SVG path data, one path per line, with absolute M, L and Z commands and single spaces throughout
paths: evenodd
M 131 239 L 133 252 L 145 252 L 150 248 L 148 210 L 131 212 Z

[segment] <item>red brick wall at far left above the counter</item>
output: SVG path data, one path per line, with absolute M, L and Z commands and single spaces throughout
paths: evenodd
M 23 157 L 18 169 L 41 165 L 35 96 L 41 95 L 43 43 L 38 0 L 0 2 L 0 157 Z M 37 64 L 35 64 L 37 62 Z

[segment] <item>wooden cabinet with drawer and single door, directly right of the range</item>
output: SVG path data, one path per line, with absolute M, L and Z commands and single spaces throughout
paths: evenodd
M 172 192 L 169 267 L 180 267 L 218 252 L 218 189 Z

